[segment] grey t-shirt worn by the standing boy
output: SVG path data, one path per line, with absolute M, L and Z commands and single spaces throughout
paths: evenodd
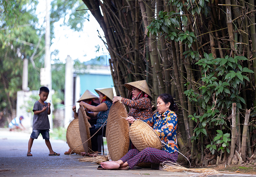
M 45 130 L 50 129 L 50 122 L 48 119 L 48 103 L 44 102 L 45 105 L 42 105 L 39 101 L 36 101 L 33 112 L 34 111 L 40 111 L 43 109 L 43 107 L 46 107 L 46 110 L 40 114 L 34 114 L 33 117 L 33 130 Z

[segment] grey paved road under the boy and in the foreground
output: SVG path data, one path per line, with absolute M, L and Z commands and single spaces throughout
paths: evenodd
M 68 144 L 62 140 L 51 140 L 53 151 L 60 156 L 49 156 L 42 137 L 34 140 L 32 146 L 32 157 L 27 157 L 28 140 L 30 134 L 25 132 L 10 132 L 8 129 L 0 128 L 0 176 L 19 177 L 66 177 L 66 176 L 175 176 L 189 177 L 197 173 L 170 173 L 152 169 L 134 170 L 97 170 L 95 163 L 79 162 L 80 155 L 64 155 L 68 150 Z M 1 171 L 9 170 L 9 171 Z M 218 175 L 223 176 L 223 175 Z M 227 176 L 227 175 L 224 175 Z M 228 175 L 231 176 L 231 175 Z M 237 176 L 237 175 L 236 175 Z M 243 175 L 244 176 L 244 175 Z

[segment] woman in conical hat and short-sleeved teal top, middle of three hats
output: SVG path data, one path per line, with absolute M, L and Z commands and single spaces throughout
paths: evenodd
M 99 94 L 100 104 L 98 106 L 92 106 L 90 104 L 81 101 L 79 105 L 83 105 L 85 108 L 91 110 L 92 112 L 86 112 L 88 116 L 96 117 L 97 116 L 97 123 L 95 127 L 90 128 L 90 134 L 94 135 L 104 124 L 104 122 L 108 119 L 108 112 L 110 107 L 112 106 L 112 98 L 114 97 L 113 89 L 112 88 L 99 88 L 94 89 Z M 98 135 L 102 134 L 102 129 L 100 129 L 96 135 L 92 136 L 92 151 L 98 151 L 98 142 L 97 137 Z M 82 154 L 82 153 L 81 153 Z M 82 154 L 85 155 L 85 154 Z

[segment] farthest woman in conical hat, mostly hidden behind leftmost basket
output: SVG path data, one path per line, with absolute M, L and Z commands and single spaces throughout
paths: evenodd
M 93 105 L 93 106 L 98 106 L 100 104 L 99 102 L 99 97 L 98 95 L 96 95 L 95 93 L 91 92 L 90 90 L 86 90 L 83 95 L 78 99 L 78 101 L 76 101 L 77 103 L 80 103 L 81 101 L 84 101 L 87 104 Z M 86 108 L 85 108 L 86 109 Z M 74 118 L 78 118 L 78 110 L 76 112 L 76 106 L 74 105 L 72 107 L 72 110 L 74 112 Z M 90 110 L 86 110 L 86 111 L 90 111 Z M 91 125 L 96 124 L 97 121 L 97 117 L 89 117 L 87 116 L 88 122 Z M 69 149 L 68 151 L 64 152 L 64 154 L 68 155 L 68 154 L 74 154 L 73 151 L 71 151 L 71 149 Z

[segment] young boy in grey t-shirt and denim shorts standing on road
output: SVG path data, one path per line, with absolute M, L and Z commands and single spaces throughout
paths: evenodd
M 51 114 L 51 103 L 44 102 L 47 100 L 49 95 L 49 89 L 47 87 L 40 87 L 39 90 L 39 97 L 40 99 L 36 101 L 33 112 L 33 132 L 31 133 L 30 139 L 28 141 L 28 153 L 27 156 L 32 156 L 31 153 L 31 147 L 33 144 L 34 139 L 37 139 L 39 134 L 43 136 L 43 139 L 45 139 L 45 144 L 47 145 L 50 154 L 49 156 L 58 156 L 60 155 L 57 152 L 54 152 L 52 150 L 52 145 L 50 143 L 50 135 L 49 135 L 49 129 L 50 129 L 50 122 L 48 119 L 48 115 Z

